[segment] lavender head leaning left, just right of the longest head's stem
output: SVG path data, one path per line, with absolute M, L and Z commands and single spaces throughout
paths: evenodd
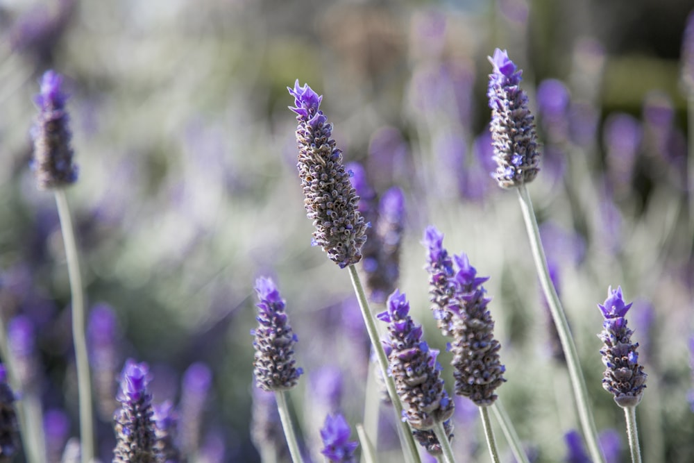
M 443 379 L 436 361 L 439 353 L 421 339 L 422 327 L 409 317 L 409 303 L 398 289 L 390 295 L 387 310 L 378 319 L 387 321 L 389 373 L 393 376 L 400 400 L 403 420 L 418 430 L 428 430 L 453 414 L 453 401 L 443 389 Z

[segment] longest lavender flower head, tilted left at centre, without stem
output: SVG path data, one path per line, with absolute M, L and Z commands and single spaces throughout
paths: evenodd
M 359 214 L 359 196 L 350 183 L 350 175 L 342 163 L 342 151 L 330 137 L 332 124 L 319 109 L 323 96 L 308 84 L 287 87 L 294 96 L 296 107 L 296 142 L 298 162 L 307 216 L 313 220 L 316 231 L 314 244 L 328 253 L 328 258 L 341 269 L 356 264 L 362 258 L 362 245 L 366 241 L 366 223 Z

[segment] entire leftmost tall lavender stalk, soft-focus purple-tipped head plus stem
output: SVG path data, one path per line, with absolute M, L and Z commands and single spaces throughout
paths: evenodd
M 55 71 L 46 71 L 41 81 L 41 91 L 35 101 L 39 106 L 39 115 L 31 133 L 34 141 L 32 165 L 38 187 L 41 190 L 53 190 L 60 216 L 72 295 L 72 337 L 77 366 L 82 461 L 87 463 L 94 457 L 92 383 L 85 334 L 82 276 L 70 209 L 64 190 L 65 187 L 76 182 L 78 169 L 72 160 L 69 115 L 65 109 L 67 95 L 62 90 L 62 77 Z

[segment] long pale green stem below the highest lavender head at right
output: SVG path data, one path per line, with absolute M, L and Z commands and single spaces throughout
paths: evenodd
M 547 298 L 548 305 L 550 306 L 552 319 L 559 333 L 561 348 L 564 350 L 564 357 L 566 357 L 566 366 L 571 380 L 573 395 L 576 400 L 578 418 L 581 423 L 583 435 L 588 444 L 588 450 L 593 462 L 604 463 L 604 455 L 602 455 L 602 451 L 600 451 L 600 446 L 598 445 L 598 430 L 595 428 L 593 412 L 588 403 L 586 380 L 583 377 L 583 372 L 579 364 L 578 352 L 573 343 L 573 337 L 571 337 L 571 331 L 568 327 L 568 321 L 566 321 L 564 308 L 561 307 L 561 302 L 559 302 L 559 296 L 557 296 L 555 286 L 552 285 L 552 280 L 550 280 L 550 272 L 547 267 L 545 251 L 542 248 L 540 232 L 535 219 L 535 213 L 532 210 L 532 201 L 530 201 L 530 195 L 527 193 L 525 185 L 518 187 L 518 199 L 521 201 L 525 228 L 528 238 L 530 239 L 530 248 L 532 250 L 532 257 L 535 262 L 537 274 L 540 278 L 540 285 L 542 286 L 545 298 Z

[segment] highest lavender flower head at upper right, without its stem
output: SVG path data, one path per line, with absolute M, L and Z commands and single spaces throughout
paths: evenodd
M 530 183 L 539 172 L 540 153 L 534 117 L 527 108 L 527 95 L 521 90 L 521 71 L 506 51 L 496 49 L 489 58 L 489 108 L 491 138 L 496 172 L 492 174 L 502 188 Z

